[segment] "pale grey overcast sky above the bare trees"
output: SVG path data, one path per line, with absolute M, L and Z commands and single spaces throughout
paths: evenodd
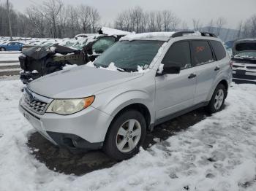
M 5 0 L 0 0 L 3 2 Z M 10 0 L 14 8 L 22 12 L 37 0 Z M 192 18 L 200 19 L 203 24 L 211 18 L 225 17 L 227 28 L 237 28 L 240 20 L 256 14 L 256 0 L 63 0 L 65 4 L 88 4 L 97 7 L 102 23 L 112 23 L 118 12 L 140 6 L 145 10 L 171 9 L 188 26 Z

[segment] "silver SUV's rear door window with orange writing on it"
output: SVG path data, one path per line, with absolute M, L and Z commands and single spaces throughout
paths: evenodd
M 211 51 L 210 44 L 204 40 L 191 42 L 192 63 L 194 66 L 199 66 L 205 63 L 214 61 L 214 56 Z

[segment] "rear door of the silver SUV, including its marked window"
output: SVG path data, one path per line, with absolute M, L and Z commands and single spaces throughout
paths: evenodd
M 214 52 L 207 40 L 192 40 L 190 44 L 192 65 L 195 67 L 195 74 L 197 75 L 195 104 L 199 104 L 206 101 L 219 68 L 215 61 Z

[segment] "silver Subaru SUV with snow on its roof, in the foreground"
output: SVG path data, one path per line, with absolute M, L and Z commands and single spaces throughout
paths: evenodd
M 94 63 L 31 82 L 19 109 L 53 144 L 124 160 L 154 125 L 202 106 L 218 112 L 231 81 L 230 57 L 214 34 L 132 34 Z

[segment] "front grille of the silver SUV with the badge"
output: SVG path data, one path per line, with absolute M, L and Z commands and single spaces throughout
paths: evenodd
M 48 106 L 48 103 L 40 101 L 27 90 L 23 97 L 23 103 L 25 104 L 26 108 L 30 109 L 33 112 L 36 112 L 37 114 L 44 114 L 45 109 L 47 109 Z

